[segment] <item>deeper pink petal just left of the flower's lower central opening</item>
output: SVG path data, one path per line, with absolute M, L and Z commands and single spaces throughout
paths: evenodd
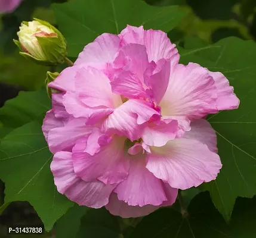
M 94 155 L 85 152 L 87 141 L 78 140 L 73 148 L 73 165 L 75 173 L 85 181 L 95 179 L 105 184 L 120 183 L 128 176 L 129 163 L 124 158 L 125 138 L 113 137 L 107 145 L 100 147 Z

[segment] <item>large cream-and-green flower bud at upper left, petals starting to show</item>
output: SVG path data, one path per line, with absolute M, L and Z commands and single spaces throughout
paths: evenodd
M 47 21 L 34 18 L 23 21 L 18 40 L 14 43 L 20 48 L 20 54 L 38 64 L 63 64 L 66 57 L 66 40 L 63 35 Z

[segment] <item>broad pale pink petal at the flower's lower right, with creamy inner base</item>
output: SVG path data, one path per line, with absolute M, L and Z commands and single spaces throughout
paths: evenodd
M 214 180 L 222 167 L 220 157 L 198 140 L 179 138 L 161 148 L 150 149 L 147 169 L 177 189 L 189 189 Z

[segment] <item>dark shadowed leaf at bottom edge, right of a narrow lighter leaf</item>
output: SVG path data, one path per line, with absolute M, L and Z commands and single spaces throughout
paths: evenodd
M 90 209 L 81 221 L 76 238 L 121 238 L 118 220 L 105 208 Z M 58 237 L 57 237 L 58 238 Z

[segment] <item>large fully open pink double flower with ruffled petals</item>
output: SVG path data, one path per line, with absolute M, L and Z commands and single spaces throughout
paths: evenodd
M 42 127 L 58 192 L 139 217 L 217 177 L 215 131 L 202 118 L 239 100 L 223 74 L 179 58 L 164 32 L 127 26 L 98 36 L 49 84 L 61 92 Z

